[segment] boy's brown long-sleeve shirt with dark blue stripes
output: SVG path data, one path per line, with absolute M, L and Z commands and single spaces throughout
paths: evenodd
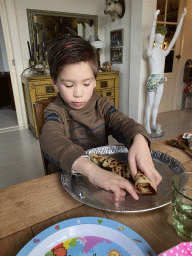
M 116 110 L 108 98 L 99 96 L 95 91 L 80 110 L 72 109 L 58 94 L 44 114 L 45 124 L 39 138 L 41 148 L 66 171 L 71 171 L 73 163 L 86 155 L 86 150 L 105 146 L 109 135 L 128 149 L 136 134 L 148 138 L 141 124 Z

